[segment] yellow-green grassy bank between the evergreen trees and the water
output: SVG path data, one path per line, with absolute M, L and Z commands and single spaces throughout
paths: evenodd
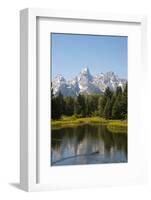
M 84 117 L 76 118 L 75 116 L 63 117 L 60 120 L 52 120 L 52 129 L 58 129 L 63 127 L 75 127 L 84 124 L 102 124 L 107 125 L 107 128 L 111 132 L 127 132 L 126 120 L 106 120 L 101 117 Z

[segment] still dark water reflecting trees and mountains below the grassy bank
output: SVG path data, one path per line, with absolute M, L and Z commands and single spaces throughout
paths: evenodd
M 52 166 L 127 162 L 127 134 L 102 125 L 52 130 L 51 147 Z

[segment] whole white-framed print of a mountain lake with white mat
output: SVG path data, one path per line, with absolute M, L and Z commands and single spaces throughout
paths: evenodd
M 146 17 L 20 16 L 22 189 L 144 183 Z

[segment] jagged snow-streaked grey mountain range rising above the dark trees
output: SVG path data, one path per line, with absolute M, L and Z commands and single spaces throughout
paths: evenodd
M 114 91 L 118 86 L 123 88 L 126 82 L 126 79 L 119 78 L 112 71 L 92 76 L 88 68 L 83 68 L 72 80 L 66 80 L 61 74 L 56 75 L 52 80 L 52 88 L 54 95 L 60 91 L 64 96 L 77 96 L 101 94 L 107 87 Z

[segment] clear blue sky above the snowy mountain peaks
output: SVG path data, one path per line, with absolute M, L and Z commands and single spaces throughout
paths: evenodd
M 70 80 L 88 67 L 95 75 L 114 71 L 127 78 L 127 36 L 51 33 L 52 77 Z

